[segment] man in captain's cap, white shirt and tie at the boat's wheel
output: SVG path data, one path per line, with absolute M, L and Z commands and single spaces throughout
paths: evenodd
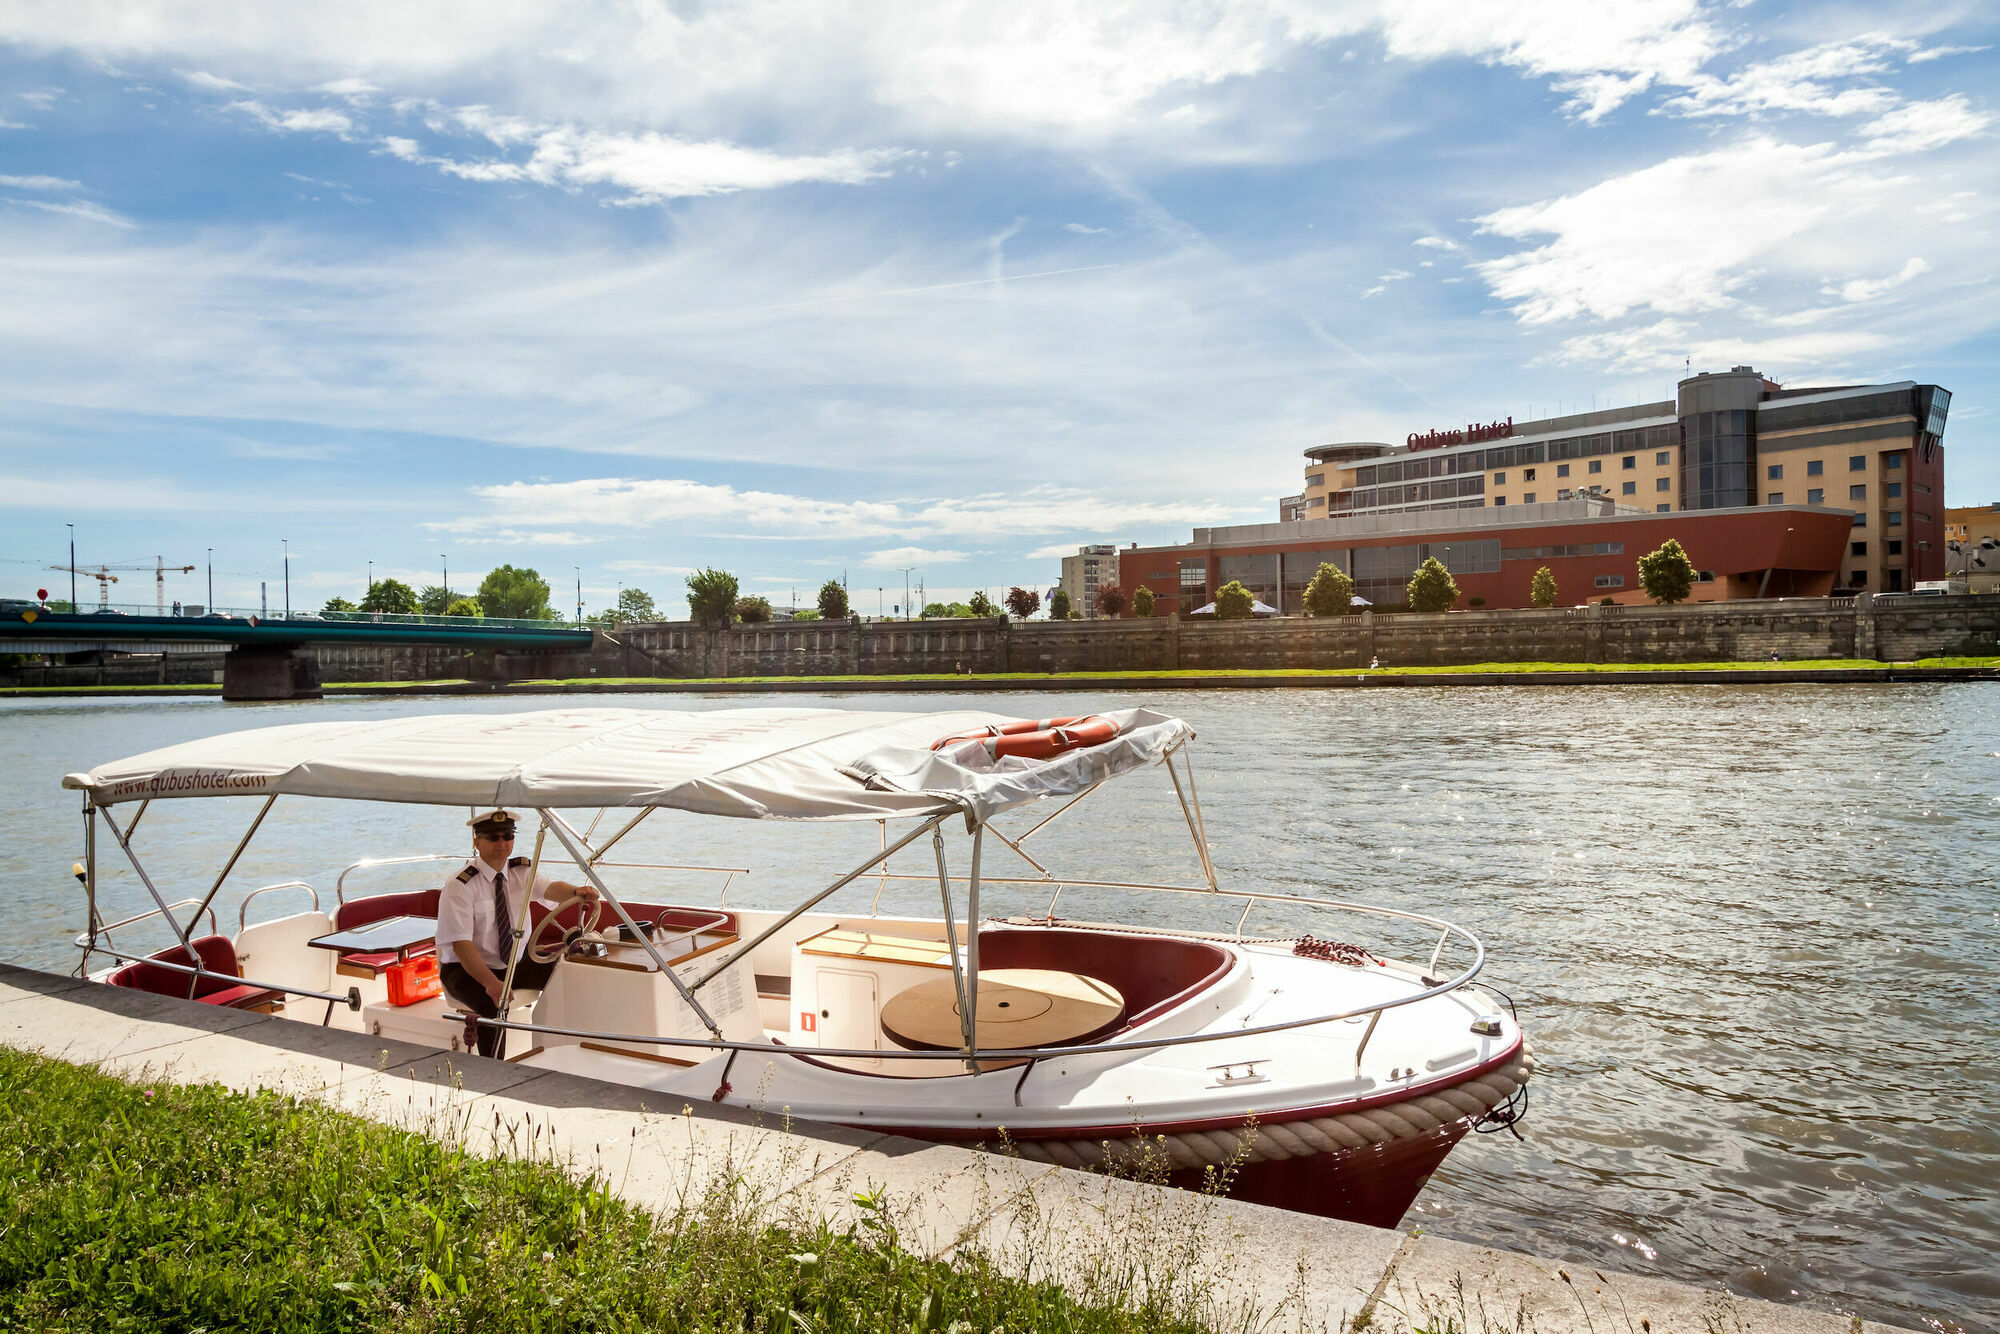
M 598 890 L 536 874 L 528 858 L 512 856 L 512 812 L 488 810 L 466 824 L 472 826 L 472 856 L 438 890 L 438 980 L 452 1000 L 482 1018 L 494 1018 L 500 1014 L 514 932 L 528 928 L 528 902 L 560 908 L 572 898 L 594 902 Z M 514 988 L 548 986 L 558 962 L 536 964 L 524 954 L 514 966 Z M 480 1056 L 492 1056 L 498 1044 L 500 1030 L 480 1026 Z

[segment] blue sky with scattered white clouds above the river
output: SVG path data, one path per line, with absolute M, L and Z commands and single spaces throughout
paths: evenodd
M 874 614 L 1690 366 L 1942 384 L 1948 504 L 2000 502 L 1996 48 L 1928 0 L 10 0 L 0 596 L 66 596 L 74 524 L 186 602 L 288 550 L 294 608 L 514 564 L 678 616 L 714 566 Z

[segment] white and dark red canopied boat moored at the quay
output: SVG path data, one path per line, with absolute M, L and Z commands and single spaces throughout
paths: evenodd
M 1512 1124 L 1524 1106 L 1532 1056 L 1512 1006 L 1474 984 L 1484 948 L 1418 912 L 1222 884 L 1194 786 L 1194 730 L 1142 708 L 1096 718 L 1082 740 L 1100 736 L 1102 720 L 1114 724 L 1110 740 L 1062 750 L 1078 738 L 1058 736 L 1042 746 L 1058 754 L 998 758 L 978 738 L 1022 720 L 964 710 L 564 708 L 308 722 L 170 746 L 64 778 L 84 794 L 80 972 L 458 1048 L 466 1016 L 446 996 L 390 1004 L 394 948 L 334 952 L 322 938 L 434 918 L 436 890 L 358 886 L 424 862 L 438 862 L 442 882 L 464 854 L 356 862 L 330 906 L 304 882 L 260 886 L 244 894 L 234 934 L 216 930 L 214 900 L 280 796 L 504 806 L 524 820 L 534 812 L 540 866 L 556 878 L 580 872 L 602 894 L 594 930 L 576 920 L 578 904 L 516 938 L 516 960 L 534 946 L 568 954 L 542 992 L 514 992 L 492 1020 L 516 1062 L 1004 1144 L 1066 1166 L 1164 1150 L 1178 1184 L 1230 1166 L 1240 1198 L 1394 1226 L 1468 1130 Z M 1188 882 L 1076 880 L 1036 858 L 1052 820 L 1108 780 L 1146 772 L 1164 778 L 1160 800 L 1178 804 Z M 208 894 L 168 902 L 136 832 L 152 802 L 188 798 L 248 798 L 256 810 Z M 802 902 L 746 908 L 728 902 L 744 866 L 610 858 L 662 808 L 876 822 L 880 834 Z M 748 846 L 740 834 L 724 846 Z M 98 912 L 110 848 L 154 900 L 138 918 Z M 640 902 L 642 874 L 706 878 L 720 894 Z M 938 894 L 936 916 L 878 910 L 888 886 L 912 884 Z M 840 890 L 848 900 L 872 890 L 874 902 L 836 912 L 828 900 Z M 266 896 L 284 892 L 310 894 L 312 906 L 250 922 L 252 902 L 268 912 L 278 900 Z M 1198 930 L 1058 916 L 1064 894 L 1074 904 L 1134 892 L 1158 896 L 1152 918 L 1212 920 Z M 982 896 L 1012 912 L 982 916 Z M 1264 930 L 1252 930 L 1254 912 Z M 164 926 L 174 944 L 122 946 L 142 926 Z M 1410 942 L 1414 932 L 1430 946 L 1424 962 L 1380 946 L 1384 934 Z

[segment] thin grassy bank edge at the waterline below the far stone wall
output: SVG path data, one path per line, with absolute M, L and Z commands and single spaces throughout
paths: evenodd
M 1786 684 L 1912 684 L 1912 682 L 1968 682 L 2000 680 L 1994 668 L 1920 668 L 1920 666 L 1880 666 L 1880 668 L 1668 668 L 1652 672 L 1312 672 L 1292 676 L 1244 674 L 1148 674 L 1148 676 L 928 676 L 918 680 L 856 680 L 850 676 L 788 676 L 788 678 L 748 678 L 748 680 L 572 680 L 572 682 L 408 682 L 380 686 L 328 686 L 326 694 L 338 696 L 382 696 L 382 694 L 470 694 L 470 696 L 514 696 L 514 694 L 1000 694 L 1008 690 L 1388 690 L 1410 686 L 1786 686 Z M 214 696 L 218 688 L 90 688 L 68 686 L 46 688 L 6 688 L 0 698 L 48 700 L 48 698 L 182 698 Z

